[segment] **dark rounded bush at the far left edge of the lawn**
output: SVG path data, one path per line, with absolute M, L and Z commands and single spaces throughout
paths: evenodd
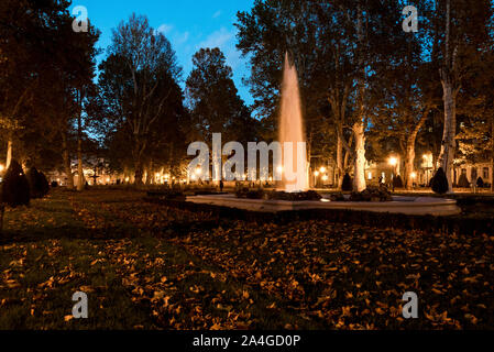
M 3 176 L 2 202 L 12 208 L 30 204 L 30 185 L 18 162 L 12 161 Z

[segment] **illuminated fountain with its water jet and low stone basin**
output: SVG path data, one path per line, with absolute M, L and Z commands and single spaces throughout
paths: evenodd
M 304 196 L 314 195 L 309 189 L 308 163 L 305 146 L 305 131 L 301 114 L 301 102 L 298 87 L 298 77 L 295 66 L 285 55 L 283 72 L 282 99 L 279 111 L 279 143 L 283 150 L 282 165 L 273 165 L 277 173 L 283 173 L 277 189 L 267 198 L 243 198 L 235 195 L 204 195 L 187 197 L 187 201 L 228 208 L 238 208 L 250 211 L 277 212 L 308 209 L 345 209 L 372 212 L 394 212 L 407 215 L 450 216 L 458 215 L 461 209 L 455 200 L 428 197 L 393 197 L 392 201 L 332 201 L 329 195 L 319 198 L 304 199 Z M 290 142 L 293 155 L 286 150 L 286 142 Z M 303 147 L 300 147 L 303 146 Z M 286 156 L 285 154 L 288 154 Z M 298 157 L 300 156 L 300 157 Z M 288 174 L 292 174 L 288 176 Z M 294 176 L 293 178 L 292 176 Z M 288 180 L 287 178 L 294 179 Z M 246 189 L 249 191 L 249 188 Z M 262 194 L 262 193 L 260 193 Z M 275 196 L 275 197 L 273 197 Z M 276 198 L 281 196 L 281 198 Z M 297 199 L 298 198 L 298 199 Z

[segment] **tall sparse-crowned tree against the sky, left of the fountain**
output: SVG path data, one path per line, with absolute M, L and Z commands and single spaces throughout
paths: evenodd
M 143 182 L 143 162 L 153 124 L 164 118 L 180 77 L 169 41 L 132 14 L 113 31 L 109 57 L 100 65 L 99 88 L 114 125 L 125 128 L 132 143 L 135 185 Z

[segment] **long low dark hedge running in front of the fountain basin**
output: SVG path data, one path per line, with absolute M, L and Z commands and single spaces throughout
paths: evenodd
M 193 212 L 205 212 L 216 222 L 243 220 L 256 223 L 274 222 L 289 223 L 292 221 L 326 220 L 329 222 L 360 224 L 373 228 L 395 228 L 403 230 L 421 230 L 427 233 L 461 233 L 465 235 L 492 233 L 494 218 L 469 219 L 460 216 L 433 217 L 409 216 L 400 213 L 381 213 L 370 211 L 353 211 L 344 209 L 308 209 L 281 211 L 276 213 L 256 212 L 235 208 L 194 204 L 188 201 L 145 198 L 146 201 L 165 207 L 183 209 Z

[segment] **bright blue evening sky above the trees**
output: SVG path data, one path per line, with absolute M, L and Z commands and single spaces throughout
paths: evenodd
M 248 62 L 235 50 L 233 23 L 237 12 L 249 11 L 252 4 L 253 0 L 74 0 L 70 11 L 76 6 L 87 8 L 89 20 L 101 31 L 98 46 L 103 50 L 111 43 L 112 29 L 122 20 L 127 21 L 132 12 L 146 15 L 151 25 L 172 42 L 184 68 L 184 81 L 190 73 L 193 55 L 201 47 L 218 46 L 233 69 L 240 96 L 251 105 L 249 88 L 242 85 L 242 77 L 249 74 Z M 99 59 L 105 56 L 106 53 Z

